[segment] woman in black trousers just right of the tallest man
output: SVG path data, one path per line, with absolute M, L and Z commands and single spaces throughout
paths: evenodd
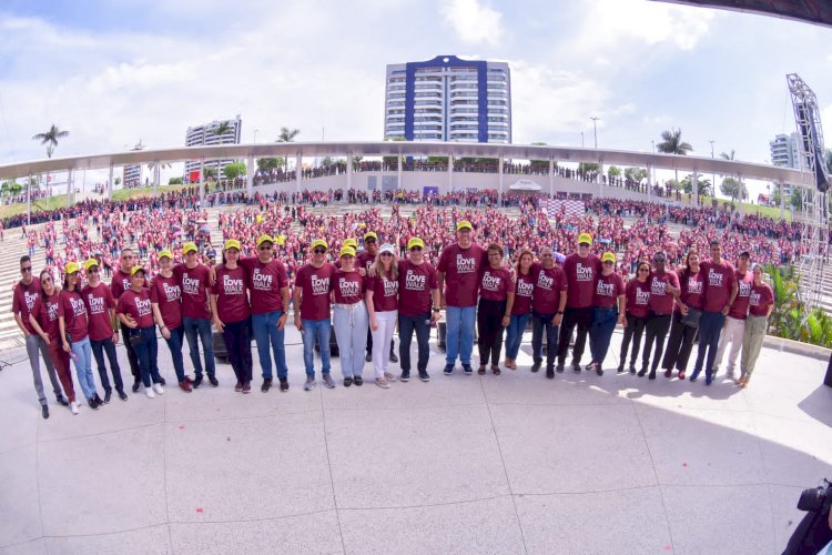
M 479 349 L 479 375 L 485 374 L 490 357 L 491 372 L 500 375 L 499 360 L 503 350 L 503 329 L 511 321 L 515 287 L 511 274 L 503 265 L 503 248 L 488 245 L 488 268 L 479 278 L 479 304 L 477 306 L 477 347 Z

